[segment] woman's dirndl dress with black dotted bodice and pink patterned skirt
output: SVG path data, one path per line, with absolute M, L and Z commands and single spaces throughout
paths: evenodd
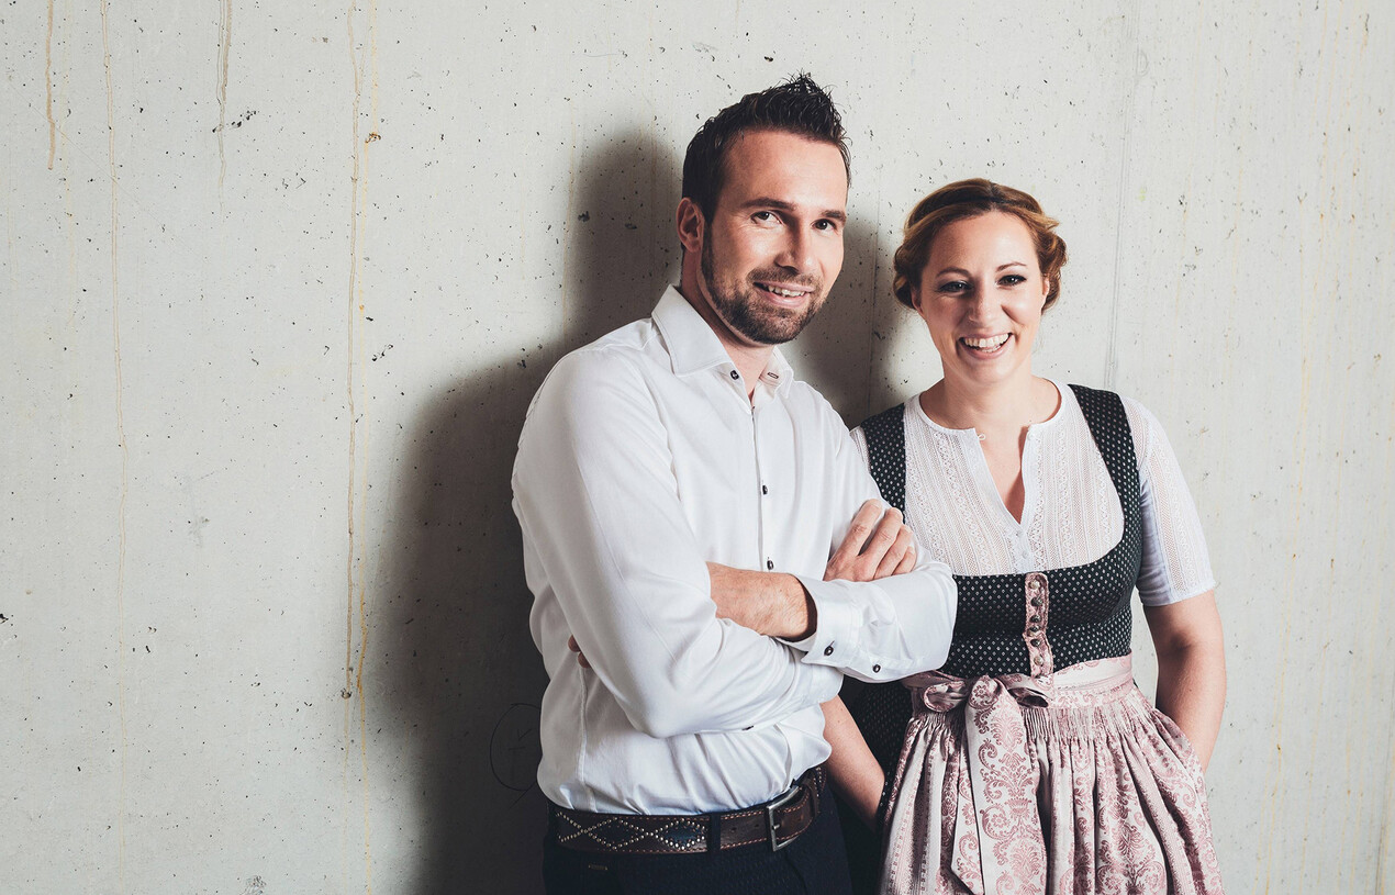
M 1200 763 L 1133 682 L 1143 534 L 1129 422 L 1116 395 L 1071 389 L 1123 537 L 1081 566 L 956 576 L 944 668 L 852 696 L 893 774 L 882 892 L 1222 892 Z M 864 432 L 883 495 L 904 509 L 901 424 L 894 407 Z M 886 461 L 897 453 L 898 477 Z

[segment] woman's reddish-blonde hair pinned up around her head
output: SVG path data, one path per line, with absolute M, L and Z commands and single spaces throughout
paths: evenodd
M 921 282 L 921 272 L 930 261 L 930 247 L 946 224 L 965 217 L 976 217 L 989 212 L 1013 215 L 1031 230 L 1036 244 L 1036 263 L 1048 283 L 1046 304 L 1042 311 L 1056 304 L 1060 294 L 1060 268 L 1066 263 L 1066 241 L 1056 236 L 1060 223 L 1042 212 L 1041 204 L 1021 190 L 975 177 L 940 187 L 919 201 L 905 219 L 901 247 L 896 250 L 896 279 L 891 290 L 896 300 L 908 308 L 911 287 Z

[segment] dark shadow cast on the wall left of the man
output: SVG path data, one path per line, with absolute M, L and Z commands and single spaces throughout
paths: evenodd
M 547 676 L 527 618 L 509 474 L 527 403 L 566 351 L 644 316 L 679 248 L 672 231 L 681 162 L 633 130 L 578 163 L 565 270 L 550 294 L 520 296 L 537 316 L 564 314 L 564 337 L 442 389 L 413 438 L 391 533 L 403 566 L 377 605 L 389 616 L 379 673 L 416 806 L 418 895 L 541 892 L 544 799 L 536 785 Z M 564 296 L 565 293 L 565 296 Z M 555 309 L 554 309 L 555 308 Z

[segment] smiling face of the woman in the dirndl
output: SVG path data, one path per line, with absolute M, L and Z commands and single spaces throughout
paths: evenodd
M 1027 224 L 988 212 L 935 236 L 911 303 L 930 329 L 944 378 L 993 385 L 1031 374 L 1048 290 Z

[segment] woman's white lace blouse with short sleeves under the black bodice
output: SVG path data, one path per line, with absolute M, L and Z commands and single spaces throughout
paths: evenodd
M 905 403 L 905 521 L 930 558 L 957 574 L 1009 574 L 1094 562 L 1123 534 L 1123 510 L 1076 393 L 1027 429 L 1018 523 L 988 471 L 974 429 L 947 429 Z M 1159 606 L 1215 588 L 1207 542 L 1182 468 L 1158 420 L 1124 397 L 1138 459 L 1144 553 L 1138 597 Z M 852 431 L 864 461 L 866 436 Z

